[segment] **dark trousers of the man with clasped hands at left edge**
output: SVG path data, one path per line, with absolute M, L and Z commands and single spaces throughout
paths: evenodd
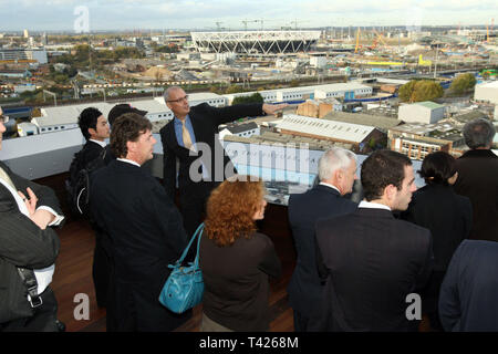
M 59 332 L 58 301 L 52 289 L 46 288 L 40 296 L 43 304 L 34 309 L 32 316 L 0 324 L 0 332 Z

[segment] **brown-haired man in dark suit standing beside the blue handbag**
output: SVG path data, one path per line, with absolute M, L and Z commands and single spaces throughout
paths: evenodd
M 173 200 L 141 168 L 153 157 L 151 129 L 141 115 L 117 118 L 111 132 L 117 159 L 95 171 L 90 188 L 92 216 L 111 240 L 108 331 L 172 331 L 191 314 L 177 315 L 158 301 L 187 236 Z

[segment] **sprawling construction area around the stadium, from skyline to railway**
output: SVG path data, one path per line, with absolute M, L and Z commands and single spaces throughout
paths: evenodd
M 55 35 L 3 35 L 0 100 L 30 98 L 32 92 L 42 104 L 41 90 L 51 92 L 43 103 L 49 96 L 60 103 L 154 96 L 172 84 L 227 94 L 386 75 L 444 83 L 467 71 L 485 71 L 484 79 L 492 80 L 498 66 L 494 19 L 485 27 L 418 29 L 298 29 L 298 21 L 293 29 L 263 29 L 262 20 L 246 20 L 243 30 L 229 31 L 221 23 L 211 32 L 87 35 L 76 43 Z

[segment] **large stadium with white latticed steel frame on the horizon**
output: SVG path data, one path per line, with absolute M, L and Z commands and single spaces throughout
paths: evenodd
M 320 31 L 227 31 L 190 32 L 196 49 L 216 53 L 307 52 L 320 39 Z

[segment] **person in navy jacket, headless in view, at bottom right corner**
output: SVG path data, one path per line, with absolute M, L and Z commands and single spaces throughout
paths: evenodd
M 445 331 L 498 331 L 497 269 L 497 242 L 460 243 L 440 287 L 439 316 Z

